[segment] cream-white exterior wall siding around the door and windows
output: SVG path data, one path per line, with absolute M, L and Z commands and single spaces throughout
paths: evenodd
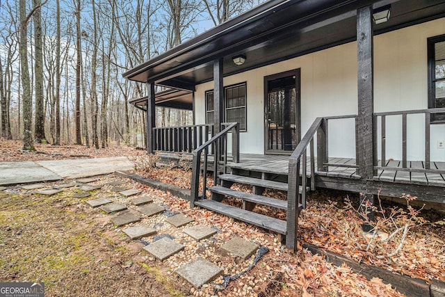
M 445 19 L 411 26 L 374 38 L 374 110 L 403 111 L 428 107 L 426 40 L 445 33 Z M 357 43 L 332 47 L 274 65 L 224 78 L 224 85 L 247 82 L 248 130 L 241 133 L 240 150 L 264 153 L 264 77 L 300 68 L 302 135 L 319 116 L 357 114 Z M 205 122 L 204 93 L 213 82 L 196 88 L 195 122 Z M 408 159 L 424 156 L 423 116 L 408 115 Z M 330 121 L 330 156 L 354 157 L 353 120 Z M 445 161 L 437 141 L 445 125 L 431 129 L 431 159 Z M 380 142 L 379 142 L 380 143 Z M 401 117 L 387 118 L 387 159 L 401 158 Z

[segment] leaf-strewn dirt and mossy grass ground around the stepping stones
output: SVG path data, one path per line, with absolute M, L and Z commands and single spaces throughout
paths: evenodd
M 36 145 L 37 153 L 22 152 L 20 147 L 21 143 L 18 141 L 0 141 L 0 161 L 125 155 L 133 156 L 136 162 L 140 156 L 145 155 L 145 151 L 129 147 L 112 147 L 97 151 L 81 146 L 72 146 L 74 149 L 71 149 Z M 165 182 L 179 184 L 185 188 L 189 186 L 187 174 L 180 174 L 176 170 L 152 172 L 151 175 L 163 175 L 167 179 Z M 107 175 L 102 177 L 99 183 L 104 184 L 115 179 L 120 178 Z M 147 253 L 142 250 L 144 244 L 129 240 L 113 226 L 108 216 L 89 207 L 85 203 L 89 198 L 72 198 L 72 194 L 78 190 L 71 189 L 47 197 L 13 186 L 8 187 L 6 191 L 0 191 L 0 282 L 43 281 L 47 296 L 403 296 L 379 278 L 366 280 L 347 266 L 332 266 L 322 257 L 312 255 L 301 246 L 296 253 L 289 252 L 283 248 L 277 234 L 273 232 L 204 209 L 190 209 L 184 200 L 170 193 L 137 184 L 129 179 L 124 181 L 127 186 L 141 189 L 144 194 L 156 198 L 172 211 L 183 212 L 200 223 L 218 227 L 221 230 L 218 236 L 223 239 L 242 236 L 268 248 L 268 252 L 251 269 L 246 268 L 247 264 L 229 264 L 229 268 L 225 268 L 225 277 L 231 278 L 227 287 L 221 287 L 224 278 L 220 277 L 208 286 L 195 289 L 174 273 L 174 267 L 181 265 L 186 259 L 181 256 L 173 257 L 168 262 L 158 262 L 147 257 Z M 94 195 L 108 197 L 110 191 L 104 187 Z M 336 197 L 339 199 L 339 196 Z M 335 200 L 334 198 L 332 199 Z M 344 226 L 335 220 L 326 220 L 332 216 L 329 216 L 327 209 L 320 211 L 326 207 L 323 200 L 325 198 L 314 197 L 314 203 L 302 214 L 300 241 L 318 241 L 315 242 L 318 246 L 341 252 L 344 245 L 339 244 L 341 239 L 334 240 L 333 235 L 339 232 L 341 236 L 341 227 Z M 280 218 L 285 214 L 277 213 L 275 216 Z M 314 226 L 318 226 L 317 220 L 325 225 L 315 228 Z M 339 226 L 336 229 L 334 225 Z M 428 246 L 431 235 L 428 234 L 428 228 L 421 230 L 421 241 L 415 234 L 410 235 L 407 250 L 416 250 L 416 241 Z M 436 233 L 432 234 L 435 246 L 444 248 L 440 239 L 444 229 L 439 228 Z M 206 239 L 204 244 L 212 251 L 211 255 L 209 250 L 203 251 L 200 248 L 191 252 L 207 255 L 218 265 L 227 266 L 221 262 L 227 260 L 227 257 L 220 254 L 220 243 L 207 242 Z M 361 252 L 362 250 L 359 250 L 357 254 L 362 255 Z M 435 261 L 429 266 L 438 267 L 435 275 L 443 275 L 444 269 L 441 267 L 444 263 L 435 256 L 435 252 L 428 254 L 430 250 L 425 248 L 420 252 L 423 254 L 403 253 L 400 261 L 423 263 L 426 257 L 419 255 L 427 255 L 427 258 L 430 256 L 429 259 Z M 415 271 L 416 266 L 412 265 L 410 269 Z M 244 273 L 239 275 L 240 271 Z M 432 278 L 432 271 L 423 273 L 427 275 L 426 280 Z

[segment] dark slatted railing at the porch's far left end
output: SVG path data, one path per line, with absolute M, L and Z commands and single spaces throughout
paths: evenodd
M 163 152 L 193 152 L 213 137 L 213 125 L 153 128 L 153 147 Z

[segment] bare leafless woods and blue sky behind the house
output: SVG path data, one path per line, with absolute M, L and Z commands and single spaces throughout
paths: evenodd
M 0 0 L 0 137 L 144 146 L 146 86 L 122 73 L 264 0 Z M 191 125 L 156 107 L 156 126 Z

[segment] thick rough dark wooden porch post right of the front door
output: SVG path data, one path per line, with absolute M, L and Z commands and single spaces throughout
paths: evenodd
M 372 185 L 374 176 L 372 13 L 372 6 L 357 9 L 357 159 L 362 182 L 366 184 L 366 191 L 360 196 L 360 202 L 363 203 L 366 203 L 366 200 L 373 203 L 374 200 L 373 194 L 368 190 Z M 368 218 L 372 219 L 373 216 L 370 215 Z M 364 225 L 363 229 L 369 231 L 370 226 Z

